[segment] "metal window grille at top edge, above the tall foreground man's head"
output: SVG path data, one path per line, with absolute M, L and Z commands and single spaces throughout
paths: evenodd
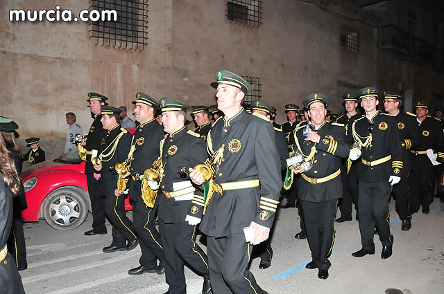
M 262 24 L 262 1 L 230 0 L 227 1 L 227 19 L 244 26 L 259 28 Z

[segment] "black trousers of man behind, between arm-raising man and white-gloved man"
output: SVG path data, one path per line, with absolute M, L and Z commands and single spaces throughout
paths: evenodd
M 358 163 L 352 163 L 348 174 L 347 167 L 341 165 L 341 178 L 343 194 L 339 199 L 339 210 L 341 217 L 348 218 L 352 217 L 353 203 L 355 203 L 355 210 L 358 211 Z

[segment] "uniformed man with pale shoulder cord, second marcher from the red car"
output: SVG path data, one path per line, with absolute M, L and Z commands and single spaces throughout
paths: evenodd
M 97 172 L 101 172 L 101 178 L 105 184 L 105 214 L 112 225 L 112 243 L 103 248 L 103 252 L 133 250 L 139 241 L 135 235 L 133 223 L 126 217 L 125 196 L 123 191 L 117 189 L 118 181 L 115 171 L 112 168 L 117 163 L 123 163 L 128 158 L 130 151 L 131 135 L 120 125 L 121 110 L 115 107 L 101 107 L 101 122 L 105 133 L 101 140 L 101 153 L 97 158 L 101 160 L 99 165 L 94 165 Z M 95 158 L 93 158 L 93 161 Z M 111 169 L 110 169 L 111 167 Z M 128 244 L 126 244 L 128 240 Z

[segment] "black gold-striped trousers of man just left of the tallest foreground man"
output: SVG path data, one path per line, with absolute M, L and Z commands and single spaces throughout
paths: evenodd
M 187 293 L 184 261 L 198 275 L 208 279 L 208 259 L 205 252 L 196 244 L 196 226 L 187 222 L 165 223 L 159 219 L 160 238 L 164 248 L 165 279 L 171 294 Z

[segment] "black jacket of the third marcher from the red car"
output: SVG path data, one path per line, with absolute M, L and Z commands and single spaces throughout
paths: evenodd
M 153 162 L 160 156 L 159 144 L 163 138 L 164 128 L 155 118 L 137 126 L 128 154 L 131 174 L 142 175 L 145 169 L 153 166 Z M 132 178 L 130 182 L 130 199 L 140 199 L 142 183 L 133 181 Z

